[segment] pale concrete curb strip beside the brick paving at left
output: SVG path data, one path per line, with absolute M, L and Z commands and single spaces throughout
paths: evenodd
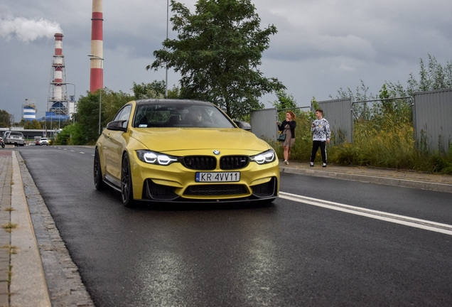
M 16 247 L 17 253 L 11 254 L 10 305 L 29 306 L 33 302 L 36 307 L 51 306 L 16 152 L 12 156 L 11 207 L 14 210 L 11 211 L 11 224 L 17 227 L 11 232 L 11 245 Z

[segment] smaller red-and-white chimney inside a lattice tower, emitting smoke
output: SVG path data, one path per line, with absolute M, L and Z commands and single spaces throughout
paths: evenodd
M 45 120 L 69 119 L 68 87 L 66 85 L 65 56 L 63 55 L 63 33 L 55 33 L 55 54 L 50 72 L 47 112 Z

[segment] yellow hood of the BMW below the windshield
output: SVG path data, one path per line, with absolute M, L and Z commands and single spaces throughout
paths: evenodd
M 251 132 L 238 128 L 158 128 L 133 129 L 131 138 L 148 149 L 169 153 L 199 149 L 265 151 L 271 147 Z

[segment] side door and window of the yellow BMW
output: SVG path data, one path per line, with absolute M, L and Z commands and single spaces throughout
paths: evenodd
M 131 114 L 131 104 L 126 104 L 114 117 L 114 121 L 125 120 L 123 127 L 127 128 L 129 124 L 129 118 Z M 104 132 L 105 138 L 107 140 L 107 146 L 104 146 L 104 155 L 106 158 L 105 170 L 109 173 L 115 180 L 120 181 L 121 179 L 121 163 L 122 163 L 122 153 L 126 147 L 126 140 L 123 134 L 124 131 L 114 131 L 106 129 Z

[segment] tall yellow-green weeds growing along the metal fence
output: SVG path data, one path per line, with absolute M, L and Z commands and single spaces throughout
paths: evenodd
M 296 118 L 296 142 L 291 149 L 290 160 L 308 162 L 311 158 L 311 116 L 306 112 Z M 448 154 L 439 151 L 431 154 L 426 146 L 426 137 L 421 137 L 416 146 L 413 135 L 414 130 L 410 122 L 394 122 L 391 117 L 378 123 L 357 121 L 353 134 L 354 143 L 344 142 L 328 146 L 328 163 L 452 174 L 451 141 L 448 141 Z M 336 137 L 333 131 L 332 139 Z M 441 139 L 438 142 L 441 142 Z M 283 153 L 281 145 L 277 143 L 272 145 L 281 157 Z M 320 159 L 318 152 L 316 160 Z

